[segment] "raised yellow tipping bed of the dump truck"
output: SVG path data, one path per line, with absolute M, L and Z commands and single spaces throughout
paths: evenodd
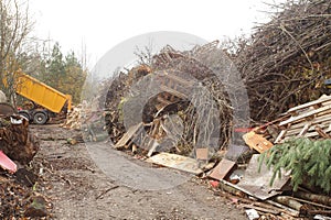
M 65 102 L 70 99 L 67 95 L 57 91 L 26 74 L 19 73 L 17 77 L 17 94 L 50 111 L 60 113 Z

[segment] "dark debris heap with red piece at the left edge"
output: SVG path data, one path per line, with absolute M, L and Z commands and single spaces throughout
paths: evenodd
M 45 198 L 33 186 L 38 176 L 28 168 L 39 151 L 25 118 L 0 103 L 0 218 L 39 218 L 49 215 Z

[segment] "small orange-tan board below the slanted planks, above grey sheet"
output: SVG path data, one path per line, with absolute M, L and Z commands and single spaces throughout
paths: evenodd
M 271 142 L 266 140 L 263 135 L 256 134 L 254 131 L 244 134 L 243 139 L 250 148 L 255 148 L 258 153 L 264 153 L 274 146 Z

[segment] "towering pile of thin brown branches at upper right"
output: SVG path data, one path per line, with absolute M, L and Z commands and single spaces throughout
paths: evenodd
M 232 54 L 256 121 L 317 99 L 331 78 L 331 2 L 289 0 L 274 7 L 280 12 Z

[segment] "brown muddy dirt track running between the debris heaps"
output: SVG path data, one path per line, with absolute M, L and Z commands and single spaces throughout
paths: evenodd
M 247 219 L 243 209 L 216 194 L 206 180 L 151 166 L 111 150 L 109 143 L 67 144 L 78 131 L 57 125 L 30 129 L 41 139 L 33 165 L 41 176 L 38 190 L 52 202 L 51 219 Z M 109 168 L 102 170 L 95 161 L 105 163 L 107 156 Z M 141 174 L 141 167 L 160 173 L 150 177 Z

